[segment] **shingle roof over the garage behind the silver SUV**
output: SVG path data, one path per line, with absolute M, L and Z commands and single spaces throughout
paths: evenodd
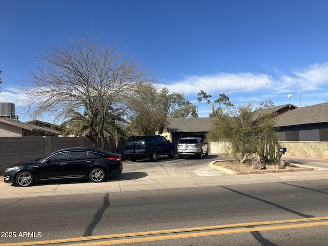
M 168 132 L 208 132 L 212 118 L 168 118 Z

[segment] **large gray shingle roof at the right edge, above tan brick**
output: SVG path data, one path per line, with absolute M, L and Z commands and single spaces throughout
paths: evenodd
M 296 108 L 275 119 L 277 127 L 328 122 L 328 103 Z

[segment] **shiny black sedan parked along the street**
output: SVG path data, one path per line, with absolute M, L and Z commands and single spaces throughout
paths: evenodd
M 4 181 L 21 187 L 54 180 L 90 179 L 101 182 L 122 170 L 121 154 L 94 148 L 68 148 L 8 167 Z

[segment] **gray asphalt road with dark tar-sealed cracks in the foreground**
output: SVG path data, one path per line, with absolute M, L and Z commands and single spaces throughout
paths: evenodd
M 327 180 L 0 199 L 0 245 L 54 239 L 85 246 L 122 239 L 131 241 L 121 245 L 142 246 L 326 245 L 327 203 Z M 167 231 L 195 227 L 192 232 Z M 67 240 L 154 231 L 160 232 L 106 236 L 95 244 Z M 13 232 L 16 236 L 8 237 Z

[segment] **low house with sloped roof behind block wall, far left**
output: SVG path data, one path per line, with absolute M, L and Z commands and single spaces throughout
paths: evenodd
M 0 137 L 59 136 L 57 129 L 40 127 L 8 117 L 0 117 Z

